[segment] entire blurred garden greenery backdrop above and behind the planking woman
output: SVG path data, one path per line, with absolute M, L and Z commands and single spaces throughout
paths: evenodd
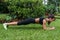
M 60 18 L 60 0 L 0 0 L 0 23 L 49 14 Z

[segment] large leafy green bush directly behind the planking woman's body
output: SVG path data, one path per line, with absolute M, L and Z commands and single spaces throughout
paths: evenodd
M 42 5 L 42 0 L 11 0 L 8 2 L 10 16 L 12 16 L 14 19 L 34 18 L 43 16 L 45 14 L 45 8 Z

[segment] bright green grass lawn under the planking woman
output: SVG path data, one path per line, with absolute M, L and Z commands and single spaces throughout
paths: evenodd
M 5 30 L 0 24 L 0 40 L 60 40 L 60 19 L 51 24 L 55 30 L 43 30 L 39 24 L 11 25 Z

